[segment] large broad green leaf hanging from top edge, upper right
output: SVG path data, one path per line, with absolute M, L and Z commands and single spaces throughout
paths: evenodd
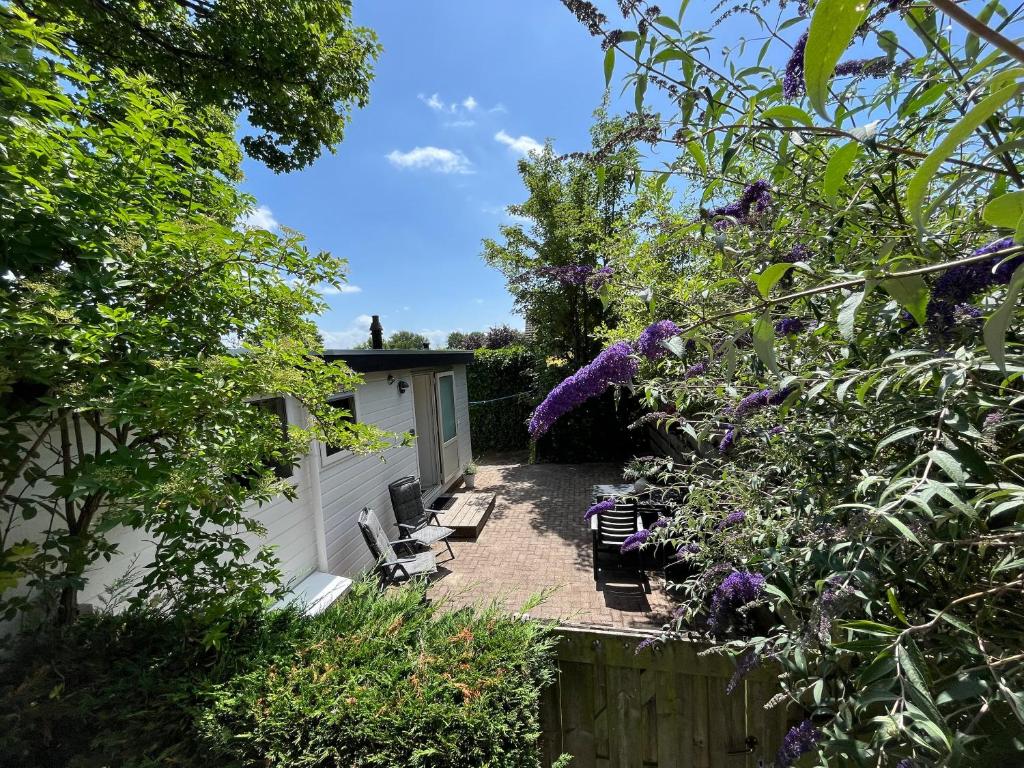
M 821 0 L 814 8 L 804 48 L 804 82 L 811 105 L 828 120 L 828 83 L 843 51 L 867 15 L 864 0 Z

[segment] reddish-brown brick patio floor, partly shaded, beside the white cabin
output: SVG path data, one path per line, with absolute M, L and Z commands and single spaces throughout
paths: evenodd
M 594 584 L 590 529 L 583 514 L 596 483 L 620 482 L 612 464 L 527 464 L 502 457 L 480 464 L 476 487 L 498 495 L 475 542 L 453 542 L 456 559 L 438 550 L 433 598 L 457 606 L 498 600 L 517 611 L 531 596 L 555 588 L 530 615 L 617 628 L 660 627 L 672 604 L 651 573 L 650 594 L 630 575 Z M 443 554 L 441 554 L 443 552 Z

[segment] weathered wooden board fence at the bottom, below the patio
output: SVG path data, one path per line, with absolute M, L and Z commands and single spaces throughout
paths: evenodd
M 732 662 L 673 642 L 636 653 L 644 635 L 560 628 L 558 682 L 541 708 L 544 765 L 571 768 L 770 766 L 787 723 L 778 690 L 755 671 L 731 694 Z

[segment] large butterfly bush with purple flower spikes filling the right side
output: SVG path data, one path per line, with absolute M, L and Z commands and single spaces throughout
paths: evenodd
M 648 170 L 682 200 L 611 261 L 616 343 L 535 419 L 612 382 L 678 438 L 672 514 L 629 543 L 692 573 L 663 641 L 734 655 L 733 695 L 777 671 L 805 720 L 776 765 L 1021 754 L 1024 50 L 998 32 L 1021 9 L 749 4 L 699 30 L 639 2 L 624 31 L 565 4 L 662 111 L 677 151 Z

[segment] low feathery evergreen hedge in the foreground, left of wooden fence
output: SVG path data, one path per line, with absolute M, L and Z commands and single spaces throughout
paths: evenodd
M 239 624 L 219 651 L 162 616 L 87 617 L 0 670 L 0 751 L 76 768 L 538 766 L 550 646 L 537 623 L 371 582 L 314 618 Z

